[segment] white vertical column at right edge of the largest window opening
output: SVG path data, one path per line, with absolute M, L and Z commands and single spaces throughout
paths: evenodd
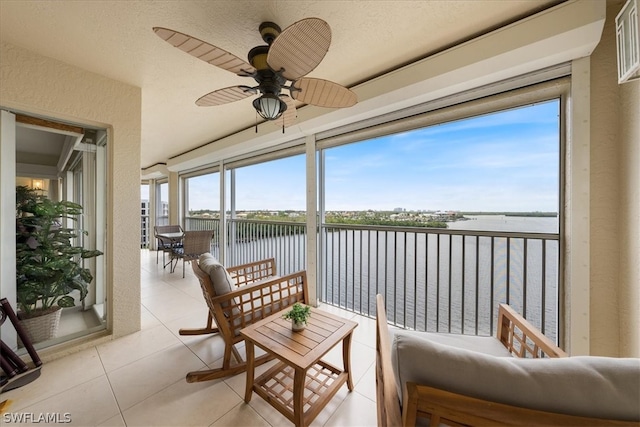
M 564 276 L 565 347 L 572 356 L 588 355 L 589 328 L 589 213 L 591 72 L 589 57 L 574 60 L 567 141 L 566 264 Z

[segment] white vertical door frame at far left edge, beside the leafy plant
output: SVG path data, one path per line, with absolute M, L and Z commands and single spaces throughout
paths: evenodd
M 16 116 L 0 110 L 0 296 L 16 306 Z M 11 322 L 0 330 L 13 350 L 17 334 Z

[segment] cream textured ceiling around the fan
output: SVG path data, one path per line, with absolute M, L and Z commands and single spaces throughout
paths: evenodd
M 253 80 L 162 41 L 160 26 L 242 59 L 264 44 L 258 26 L 283 29 L 318 17 L 332 43 L 309 76 L 344 86 L 366 81 L 557 0 L 446 1 L 13 1 L 0 0 L 0 40 L 142 88 L 141 167 L 251 127 L 253 97 L 216 107 L 195 100 Z

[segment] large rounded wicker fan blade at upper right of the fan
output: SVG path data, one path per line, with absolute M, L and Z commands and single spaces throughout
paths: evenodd
M 285 28 L 269 48 L 267 63 L 284 70 L 287 80 L 306 76 L 322 61 L 331 45 L 331 27 L 319 18 L 307 18 Z

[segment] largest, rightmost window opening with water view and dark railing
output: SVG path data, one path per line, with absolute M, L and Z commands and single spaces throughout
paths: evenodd
M 509 303 L 559 339 L 567 81 L 319 138 L 322 300 L 494 334 Z M 440 103 L 440 105 L 442 105 Z

